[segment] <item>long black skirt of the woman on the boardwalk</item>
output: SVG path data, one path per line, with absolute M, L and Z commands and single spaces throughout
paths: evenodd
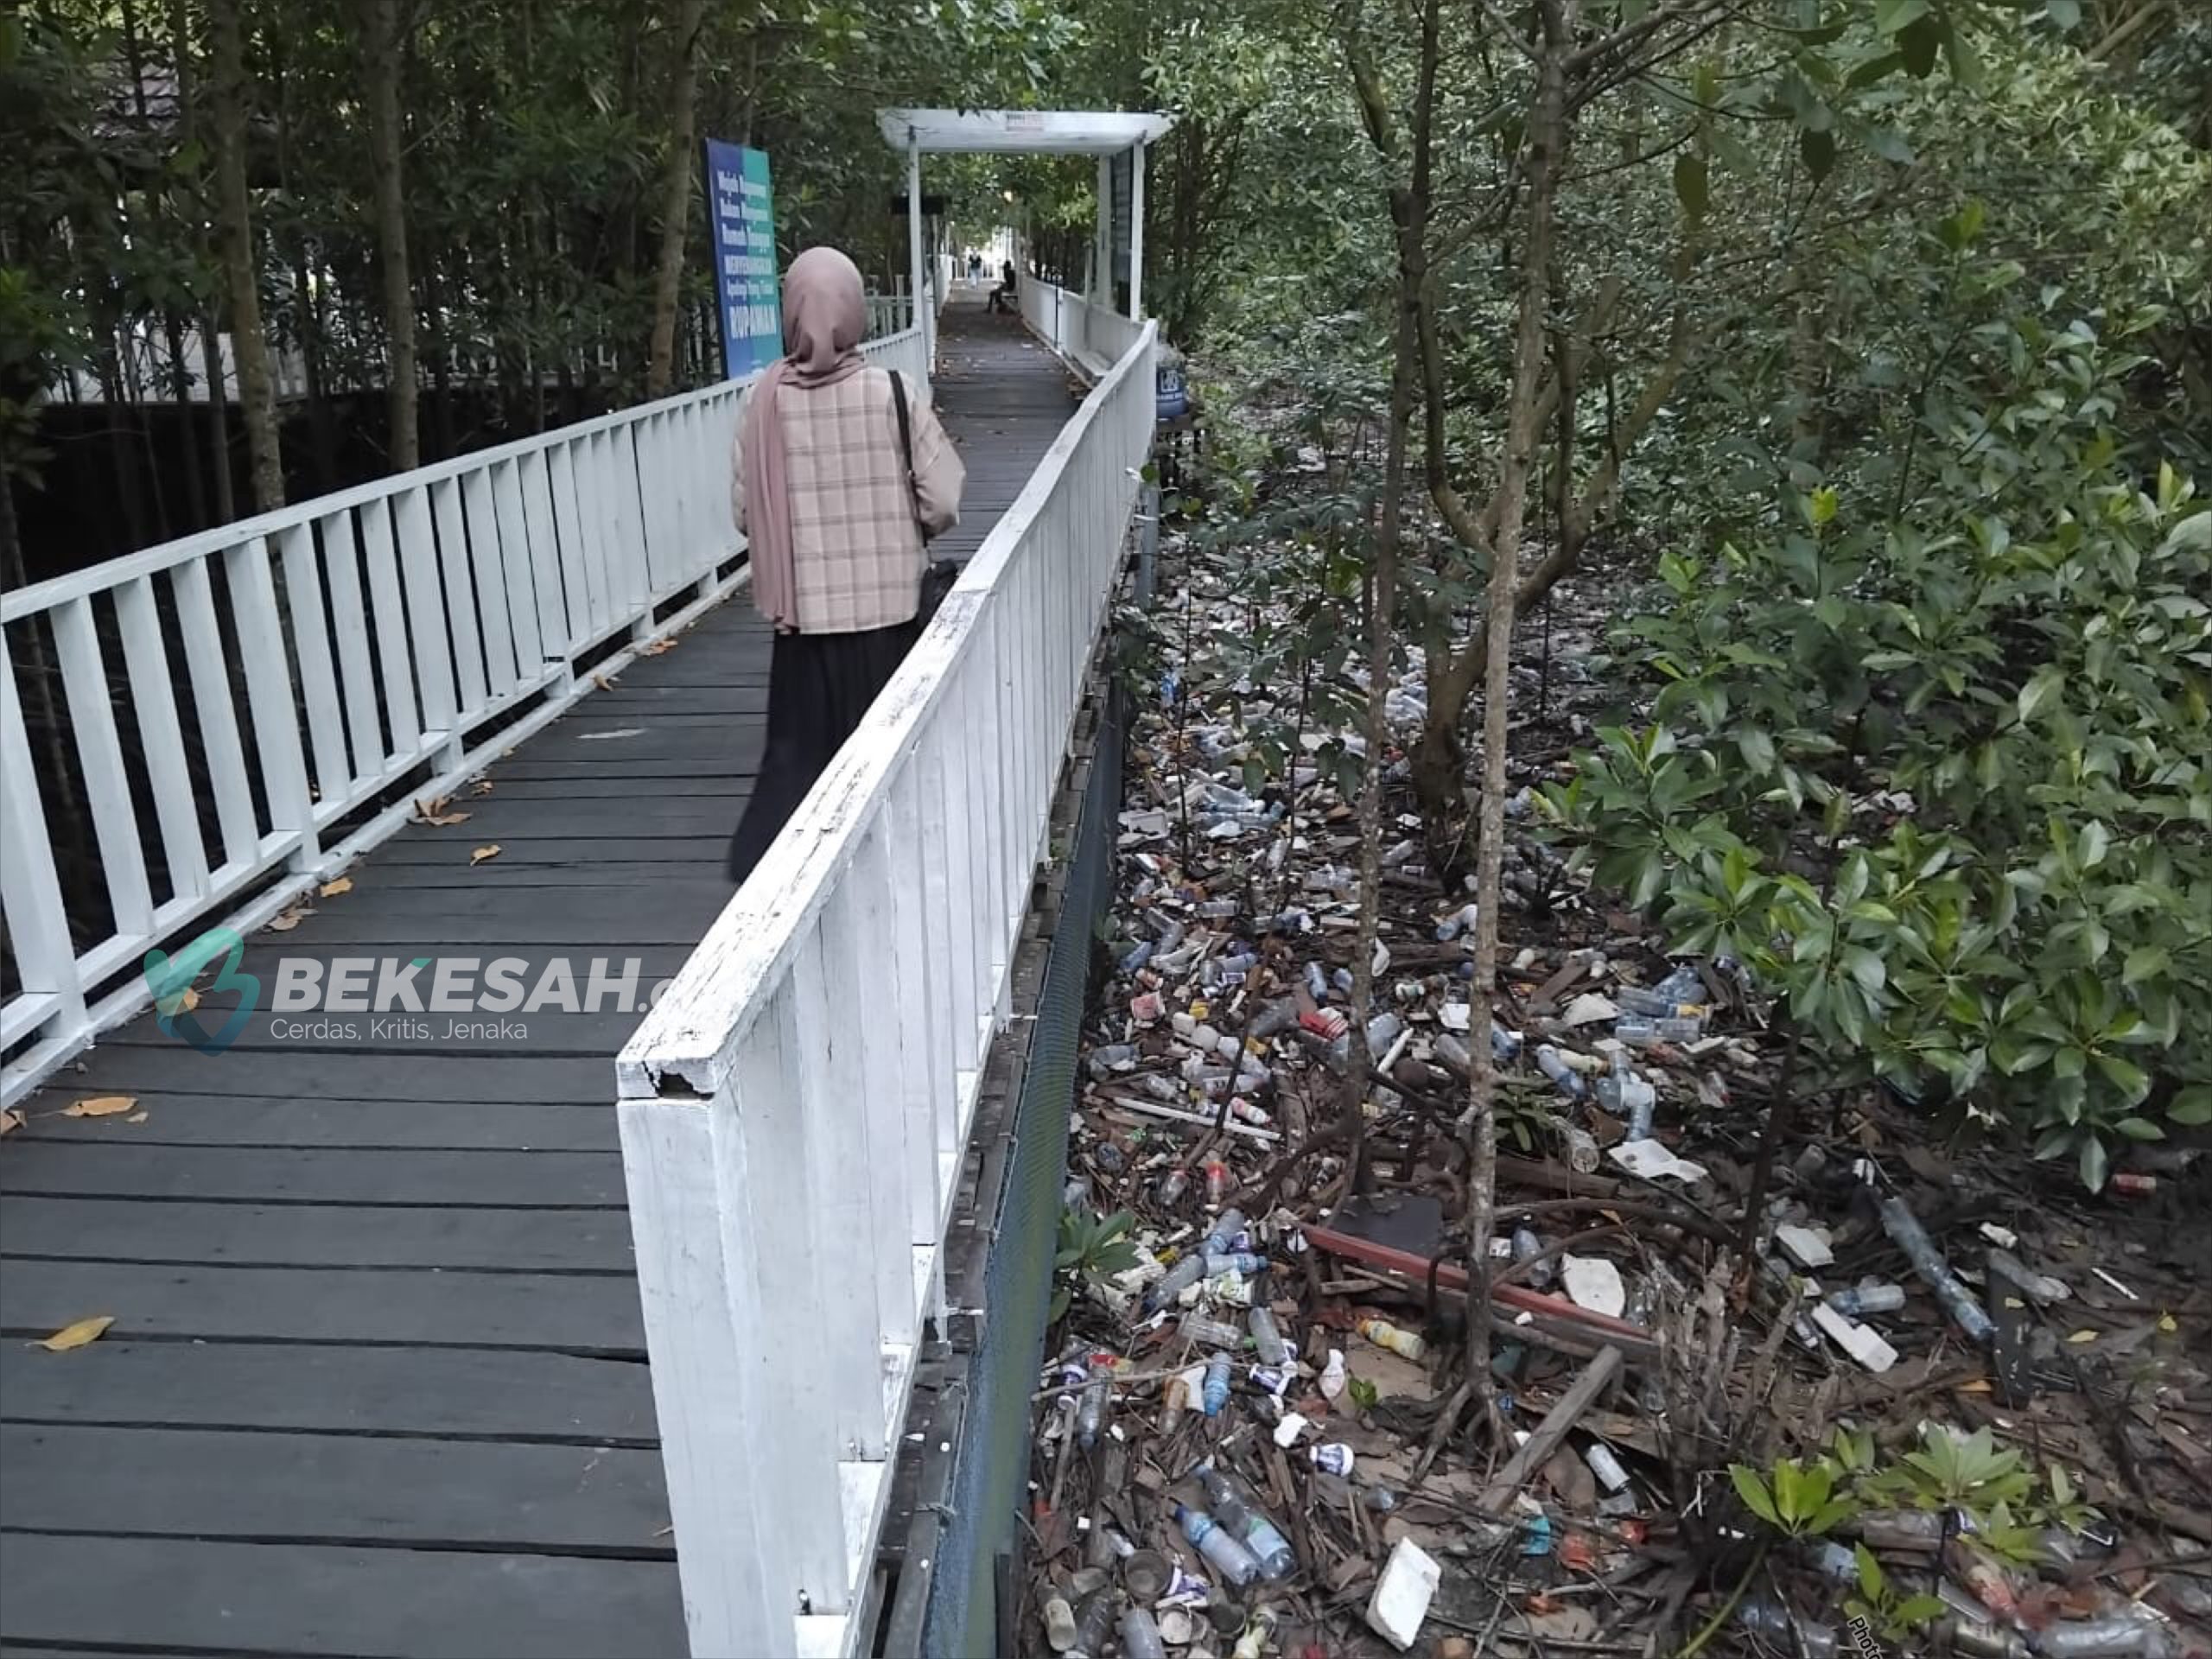
M 768 661 L 768 752 L 730 836 L 730 880 L 745 880 L 761 863 L 920 633 L 920 622 L 900 622 L 860 633 L 776 635 Z

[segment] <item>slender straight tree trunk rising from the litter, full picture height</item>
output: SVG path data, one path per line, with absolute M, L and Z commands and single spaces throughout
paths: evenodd
M 1491 538 L 1491 588 L 1482 672 L 1482 818 L 1475 838 L 1475 980 L 1469 991 L 1467 1164 L 1469 1164 L 1469 1369 L 1489 1352 L 1489 1243 L 1498 1203 L 1498 1062 L 1491 1053 L 1491 1002 L 1498 995 L 1498 902 L 1506 841 L 1506 701 L 1511 695 L 1513 613 L 1520 599 L 1520 538 L 1528 509 L 1542 418 L 1544 321 L 1551 299 L 1553 201 L 1566 159 L 1566 53 L 1575 0 L 1537 0 L 1544 42 L 1535 106 L 1528 113 L 1528 234 L 1522 243 L 1520 327 L 1513 338 L 1513 403 L 1500 469 L 1498 531 Z M 1482 1301 L 1473 1294 L 1482 1285 Z

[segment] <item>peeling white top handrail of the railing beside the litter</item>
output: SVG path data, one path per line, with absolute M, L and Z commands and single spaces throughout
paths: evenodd
M 668 991 L 624 1044 L 617 1060 L 624 1095 L 650 1095 L 668 1075 L 681 1077 L 701 1095 L 723 1082 L 730 1053 L 759 1018 L 761 989 L 790 967 L 799 940 L 821 914 L 834 876 L 852 860 L 852 849 L 874 825 L 883 807 L 880 785 L 898 761 L 907 734 L 942 692 L 945 668 L 960 655 L 975 626 L 980 595 L 998 582 L 1115 387 L 1139 374 L 1139 365 L 1150 365 L 1155 336 L 1157 325 L 1146 323 L 1135 345 L 1060 429 L 1022 493 L 984 535 L 922 637 L 823 772 L 821 783 L 792 814 L 754 878 L 723 907 Z M 730 1013 L 723 1015 L 723 1009 Z M 717 1029 L 721 1035 L 712 1035 Z

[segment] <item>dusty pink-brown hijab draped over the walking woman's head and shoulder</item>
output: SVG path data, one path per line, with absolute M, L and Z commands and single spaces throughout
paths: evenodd
M 776 400 L 836 385 L 865 365 L 867 292 L 836 248 L 807 248 L 783 272 L 783 356 L 745 400 L 745 549 L 752 602 L 779 628 L 799 626 L 792 575 L 792 487 Z

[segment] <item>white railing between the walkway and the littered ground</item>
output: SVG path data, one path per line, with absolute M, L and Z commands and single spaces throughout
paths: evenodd
M 1046 814 L 1152 436 L 1152 330 L 617 1062 L 695 1655 L 849 1655 Z

